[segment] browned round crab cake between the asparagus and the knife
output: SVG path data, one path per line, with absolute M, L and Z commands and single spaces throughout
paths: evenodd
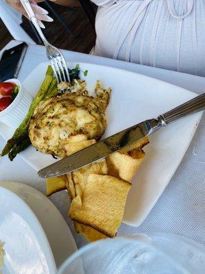
M 42 101 L 29 126 L 32 145 L 42 153 L 63 158 L 73 136 L 99 140 L 107 127 L 105 110 L 110 92 L 96 88 L 96 97 L 70 92 Z

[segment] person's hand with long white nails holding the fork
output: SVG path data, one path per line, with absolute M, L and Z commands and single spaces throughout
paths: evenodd
M 35 12 L 36 17 L 38 18 L 38 23 L 40 27 L 44 28 L 44 24 L 41 21 L 47 21 L 47 22 L 53 22 L 53 18 L 48 16 L 49 12 L 38 6 L 37 2 L 42 2 L 42 0 L 29 0 L 31 3 L 31 7 L 33 9 L 33 12 Z M 27 16 L 27 13 L 25 12 L 25 9 L 23 8 L 23 5 L 21 5 L 20 0 L 5 0 L 8 5 L 10 5 L 12 8 L 17 10 L 17 12 L 20 12 L 24 16 Z

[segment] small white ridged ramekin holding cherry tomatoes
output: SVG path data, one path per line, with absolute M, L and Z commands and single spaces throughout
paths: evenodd
M 33 98 L 26 92 L 17 79 L 9 79 L 5 82 L 16 84 L 19 86 L 19 91 L 14 101 L 5 110 L 0 112 L 0 121 L 10 127 L 18 127 L 25 118 Z

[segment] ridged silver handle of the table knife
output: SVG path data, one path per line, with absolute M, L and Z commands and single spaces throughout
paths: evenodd
M 193 114 L 195 112 L 200 112 L 201 110 L 205 109 L 205 93 L 199 95 L 190 101 L 179 105 L 177 108 L 166 112 L 158 117 L 159 122 L 161 125 L 166 126 L 169 123 L 172 123 L 184 116 L 189 114 Z

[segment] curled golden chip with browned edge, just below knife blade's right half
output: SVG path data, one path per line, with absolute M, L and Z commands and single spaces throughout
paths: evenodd
M 139 169 L 145 153 L 134 149 L 129 153 L 117 151 L 107 157 L 109 175 L 131 182 L 136 171 Z

